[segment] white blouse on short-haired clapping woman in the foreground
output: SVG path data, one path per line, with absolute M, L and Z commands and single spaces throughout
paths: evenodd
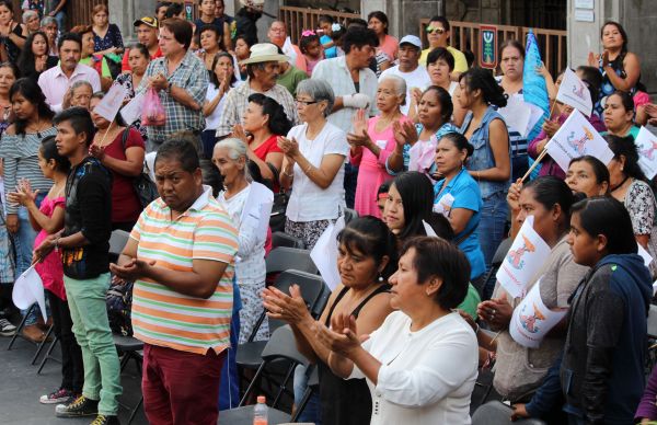
M 417 332 L 394 311 L 362 344 L 381 361 L 372 394 L 371 425 L 468 425 L 479 351 L 472 328 L 452 312 Z M 350 378 L 365 378 L 354 367 Z

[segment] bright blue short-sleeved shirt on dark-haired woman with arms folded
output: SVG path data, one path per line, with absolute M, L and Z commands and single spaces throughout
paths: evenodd
M 481 209 L 483 206 L 482 195 L 480 192 L 480 187 L 472 179 L 472 176 L 468 173 L 465 168 L 461 169 L 459 174 L 457 174 L 442 189 L 445 184 L 445 179 L 436 183 L 434 186 L 434 204 L 437 204 L 445 195 L 451 194 L 454 197 L 454 202 L 451 206 L 451 209 L 454 208 L 464 208 L 474 211 L 465 228 L 454 236 L 454 240 L 463 239 L 465 234 L 468 237 L 459 243 L 459 248 L 470 262 L 470 278 L 474 279 L 484 274 L 486 271 L 486 262 L 484 260 L 484 253 L 480 246 L 480 241 L 476 232 L 476 227 L 479 226 L 481 219 Z

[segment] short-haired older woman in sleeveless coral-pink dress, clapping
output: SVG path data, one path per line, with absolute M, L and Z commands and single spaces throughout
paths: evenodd
M 377 188 L 392 179 L 385 163 L 396 146 L 394 124 L 411 123 L 400 110 L 405 96 L 403 78 L 384 77 L 377 89 L 377 107 L 381 115 L 366 120 L 365 111 L 360 110 L 354 116 L 354 133 L 347 135 L 347 141 L 351 146 L 351 164 L 358 166 L 355 209 L 361 216 L 379 217 Z

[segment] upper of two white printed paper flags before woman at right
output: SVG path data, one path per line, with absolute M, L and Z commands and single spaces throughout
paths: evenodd
M 550 246 L 533 229 L 533 216 L 527 217 L 495 277 L 514 298 L 525 288 L 550 255 Z

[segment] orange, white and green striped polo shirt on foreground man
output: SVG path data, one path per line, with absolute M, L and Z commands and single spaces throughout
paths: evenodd
M 192 272 L 194 260 L 228 263 L 215 294 L 208 298 L 186 296 L 149 279 L 132 289 L 132 329 L 145 343 L 205 355 L 230 346 L 238 231 L 230 216 L 205 192 L 178 218 L 158 198 L 139 217 L 130 238 L 138 242 L 137 257 L 155 261 L 159 267 Z

